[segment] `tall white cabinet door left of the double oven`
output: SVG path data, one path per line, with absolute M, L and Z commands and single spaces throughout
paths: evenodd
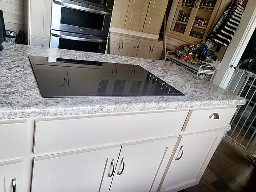
M 52 0 L 30 0 L 30 36 L 50 39 Z

